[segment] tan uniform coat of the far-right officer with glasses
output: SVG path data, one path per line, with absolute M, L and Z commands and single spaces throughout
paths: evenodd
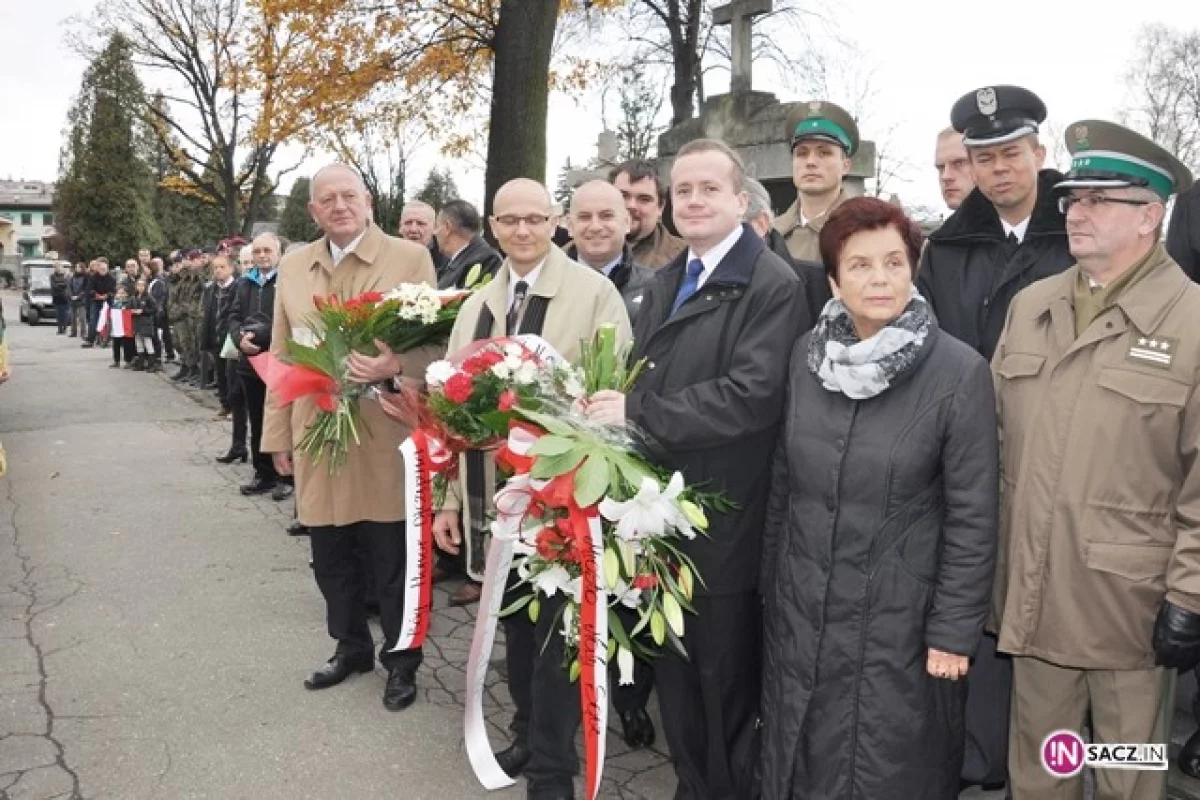
M 1200 287 L 1162 247 L 1151 259 L 1079 338 L 1078 266 L 1009 307 L 992 360 L 1002 651 L 1145 669 L 1164 595 L 1200 613 Z

